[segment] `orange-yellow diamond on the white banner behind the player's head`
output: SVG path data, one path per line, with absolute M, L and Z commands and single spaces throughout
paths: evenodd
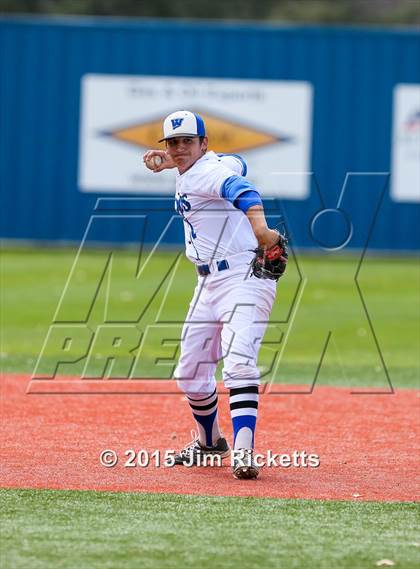
M 209 148 L 214 152 L 244 152 L 278 142 L 289 142 L 290 136 L 273 135 L 263 130 L 222 119 L 207 113 L 198 113 L 206 124 Z M 159 148 L 157 142 L 162 138 L 162 123 L 165 117 L 147 123 L 134 124 L 108 132 L 117 140 L 142 146 Z

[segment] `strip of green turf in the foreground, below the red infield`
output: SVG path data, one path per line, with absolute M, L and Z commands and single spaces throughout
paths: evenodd
M 417 568 L 414 504 L 1 491 L 3 567 Z

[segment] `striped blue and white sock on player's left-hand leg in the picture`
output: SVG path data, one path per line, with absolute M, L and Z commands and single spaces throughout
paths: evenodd
M 210 395 L 187 395 L 187 399 L 197 423 L 200 443 L 207 447 L 214 446 L 221 437 L 216 389 Z

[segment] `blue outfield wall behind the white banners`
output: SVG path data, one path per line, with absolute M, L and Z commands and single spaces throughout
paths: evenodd
M 104 196 L 98 209 L 108 217 L 91 225 L 92 240 L 136 240 L 144 219 L 140 229 L 127 223 L 127 205 L 139 216 L 152 211 L 149 242 L 172 217 L 169 197 L 112 204 L 113 194 L 79 191 L 87 73 L 310 82 L 310 196 L 266 200 L 267 210 L 283 212 L 297 246 L 334 247 L 349 238 L 348 247 L 359 248 L 369 238 L 373 249 L 419 247 L 419 204 L 393 201 L 388 174 L 394 87 L 420 83 L 414 29 L 0 18 L 2 237 L 80 241 Z M 337 213 L 348 172 L 382 174 L 350 176 L 339 204 L 344 213 Z M 174 220 L 164 242 L 182 239 Z

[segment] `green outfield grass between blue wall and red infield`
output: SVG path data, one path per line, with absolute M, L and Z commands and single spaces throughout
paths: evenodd
M 159 326 L 142 346 L 136 377 L 169 379 L 176 358 L 158 363 L 156 359 L 165 358 L 174 350 L 162 347 L 162 338 L 180 336 L 196 281 L 194 270 L 181 258 L 172 280 L 164 280 L 175 253 L 159 253 L 135 279 L 136 255 L 118 251 L 112 271 L 108 271 L 98 289 L 108 255 L 106 250 L 83 253 L 69 279 L 57 318 L 70 322 L 86 320 L 95 329 L 104 322 L 105 305 L 108 319 L 118 322 L 133 320 L 143 311 L 136 333 L 150 324 Z M 33 372 L 75 256 L 76 250 L 69 249 L 3 252 L 3 370 Z M 298 263 L 302 278 L 292 260 L 287 276 L 278 286 L 265 336 L 266 342 L 274 343 L 263 345 L 260 352 L 264 380 L 311 384 L 331 331 L 319 384 L 387 386 L 382 355 L 395 388 L 417 386 L 420 271 L 416 260 L 392 259 L 391 264 L 385 258 L 366 258 L 360 270 L 358 282 L 381 355 L 354 281 L 358 259 L 302 256 Z M 55 345 L 48 344 L 44 367 L 49 369 L 60 355 Z M 84 361 L 78 365 L 63 364 L 59 373 L 78 375 L 83 365 Z M 39 371 L 44 371 L 42 366 Z

